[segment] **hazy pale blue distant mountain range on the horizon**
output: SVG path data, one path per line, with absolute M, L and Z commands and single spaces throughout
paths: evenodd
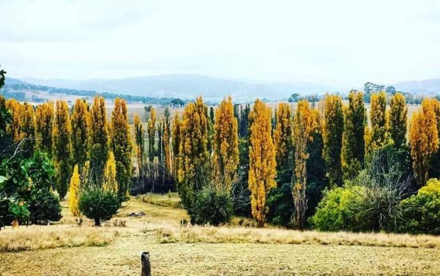
M 202 95 L 206 100 L 210 101 L 221 100 L 227 95 L 231 95 L 236 101 L 252 100 L 257 97 L 276 100 L 288 98 L 292 93 L 308 95 L 348 90 L 343 87 L 331 87 L 308 82 L 257 83 L 195 74 L 168 74 L 121 79 L 70 80 L 23 78 L 22 80 L 32 84 L 51 87 L 106 91 L 138 96 L 194 99 L 198 95 Z

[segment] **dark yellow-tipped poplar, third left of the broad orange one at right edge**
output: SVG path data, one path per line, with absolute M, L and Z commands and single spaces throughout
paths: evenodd
M 342 134 L 342 171 L 344 179 L 352 179 L 364 168 L 365 126 L 367 112 L 362 92 L 350 92 L 348 106 L 344 107 Z

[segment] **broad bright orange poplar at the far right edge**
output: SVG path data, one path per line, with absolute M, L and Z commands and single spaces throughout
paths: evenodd
M 435 104 L 435 99 L 424 99 L 420 111 L 414 113 L 411 118 L 409 140 L 412 168 L 420 186 L 428 180 L 431 156 L 438 150 Z

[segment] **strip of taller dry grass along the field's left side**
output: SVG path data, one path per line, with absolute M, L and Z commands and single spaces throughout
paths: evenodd
M 119 232 L 109 228 L 30 226 L 0 232 L 0 252 L 53 249 L 57 247 L 104 246 Z

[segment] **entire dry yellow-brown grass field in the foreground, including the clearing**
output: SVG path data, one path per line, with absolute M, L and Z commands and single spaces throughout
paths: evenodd
M 440 237 L 181 227 L 176 194 L 132 197 L 117 217 L 81 227 L 63 201 L 50 226 L 0 231 L 0 275 L 439 275 Z M 145 216 L 127 217 L 143 211 Z M 125 227 L 121 227 L 125 223 Z M 243 224 L 244 225 L 244 224 Z

